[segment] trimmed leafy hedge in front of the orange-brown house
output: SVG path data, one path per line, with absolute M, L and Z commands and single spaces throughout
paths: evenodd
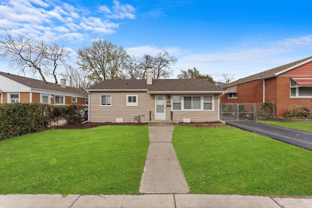
M 65 117 L 68 123 L 82 121 L 83 106 L 54 106 L 44 103 L 0 104 L 0 140 L 41 131 Z

